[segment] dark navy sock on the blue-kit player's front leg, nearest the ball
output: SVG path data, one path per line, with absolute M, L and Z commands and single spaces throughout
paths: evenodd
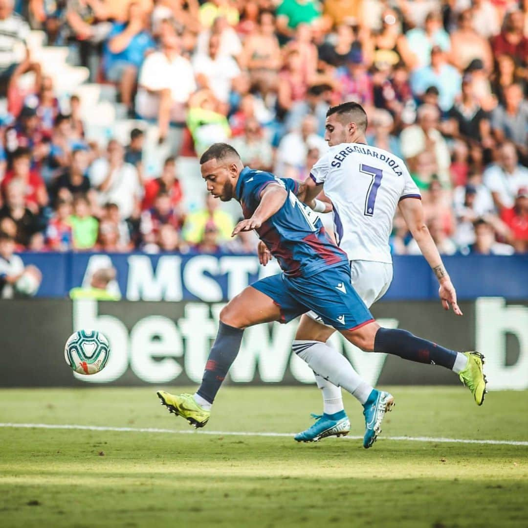
M 209 403 L 213 403 L 229 368 L 237 357 L 243 333 L 240 328 L 233 328 L 220 321 L 218 334 L 205 364 L 202 384 L 196 391 Z

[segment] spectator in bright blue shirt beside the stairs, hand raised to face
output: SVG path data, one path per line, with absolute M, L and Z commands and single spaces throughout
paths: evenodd
M 145 54 L 156 47 L 147 31 L 147 16 L 138 3 L 129 7 L 128 22 L 112 27 L 103 48 L 105 78 L 119 85 L 121 102 L 132 110 L 134 89 Z

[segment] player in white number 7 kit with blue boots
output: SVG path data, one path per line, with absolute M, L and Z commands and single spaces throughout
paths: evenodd
M 453 311 L 461 316 L 455 288 L 425 224 L 418 187 L 398 156 L 366 144 L 366 126 L 366 113 L 359 104 L 344 103 L 328 110 L 325 140 L 330 149 L 310 172 L 305 182 L 304 201 L 311 202 L 324 187 L 325 195 L 332 203 L 316 200 L 316 210 L 333 210 L 336 242 L 348 255 L 351 283 L 367 307 L 383 297 L 392 281 L 389 236 L 394 214 L 399 208 L 423 256 L 435 272 L 444 308 L 448 310 L 452 305 Z M 265 247 L 259 247 L 259 256 L 266 264 Z M 314 425 L 298 433 L 295 439 L 316 441 L 341 436 L 350 430 L 341 386 L 364 407 L 363 445 L 368 448 L 381 432 L 381 422 L 393 404 L 393 397 L 364 382 L 344 356 L 326 345 L 334 331 L 318 321 L 315 313 L 309 312 L 301 317 L 293 350 L 313 368 L 317 386 L 322 390 L 324 412 L 320 416 L 314 415 L 317 418 Z M 403 354 L 400 357 L 434 364 L 429 357 Z M 485 394 L 482 359 L 478 353 L 458 353 L 451 367 L 470 388 L 479 405 Z M 482 382 L 475 384 L 476 379 L 482 379 Z

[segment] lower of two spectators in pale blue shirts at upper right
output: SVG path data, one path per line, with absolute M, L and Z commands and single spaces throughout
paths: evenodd
M 460 94 L 462 78 L 458 70 L 447 63 L 444 51 L 440 46 L 431 50 L 431 64 L 414 71 L 411 76 L 411 89 L 414 96 L 421 98 L 427 88 L 438 88 L 438 106 L 442 112 L 447 112 L 455 103 L 455 97 Z

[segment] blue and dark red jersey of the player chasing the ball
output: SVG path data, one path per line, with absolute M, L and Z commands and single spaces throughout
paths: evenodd
M 235 198 L 244 218 L 251 218 L 260 203 L 260 193 L 270 183 L 288 192 L 284 205 L 257 229 L 259 238 L 277 259 L 288 277 L 308 277 L 329 267 L 348 263 L 346 253 L 328 236 L 319 217 L 296 196 L 298 182 L 277 178 L 245 167 L 240 173 Z

